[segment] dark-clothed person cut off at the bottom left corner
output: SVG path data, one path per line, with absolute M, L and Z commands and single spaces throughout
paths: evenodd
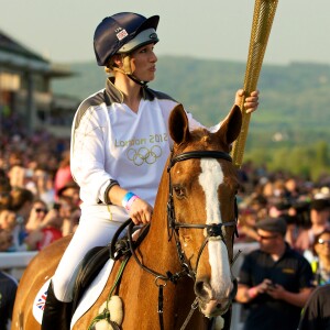
M 9 329 L 16 290 L 16 279 L 0 271 L 0 330 Z

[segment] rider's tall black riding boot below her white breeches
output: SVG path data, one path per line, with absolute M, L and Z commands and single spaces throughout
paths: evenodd
M 72 302 L 57 300 L 51 282 L 43 315 L 42 330 L 69 330 L 72 307 Z

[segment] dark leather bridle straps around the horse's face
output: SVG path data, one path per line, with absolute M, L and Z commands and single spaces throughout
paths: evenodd
M 188 276 L 193 277 L 195 279 L 196 277 L 196 272 L 199 263 L 199 258 L 202 254 L 202 251 L 210 240 L 210 238 L 220 238 L 224 245 L 227 246 L 224 237 L 223 237 L 223 227 L 235 227 L 235 234 L 238 235 L 238 230 L 237 230 L 237 219 L 238 219 L 238 206 L 237 202 L 234 204 L 234 213 L 235 213 L 235 219 L 229 222 L 223 222 L 223 223 L 211 223 L 211 224 L 200 224 L 200 223 L 183 223 L 176 221 L 175 218 L 175 208 L 174 208 L 174 201 L 173 201 L 173 186 L 172 186 L 172 178 L 170 178 L 170 168 L 178 162 L 191 160 L 191 158 L 220 158 L 228 162 L 232 162 L 231 156 L 228 153 L 221 152 L 221 151 L 193 151 L 193 152 L 186 152 L 178 154 L 175 157 L 172 157 L 167 167 L 167 173 L 169 175 L 169 193 L 168 193 L 168 201 L 167 201 L 167 231 L 168 231 L 168 240 L 172 239 L 173 233 L 175 233 L 175 240 L 176 240 L 176 249 L 178 253 L 178 257 L 180 261 L 180 264 L 183 268 L 186 270 Z M 199 249 L 199 253 L 197 256 L 197 262 L 196 262 L 196 267 L 195 270 L 191 268 L 189 265 L 188 261 L 186 260 L 185 253 L 180 246 L 179 238 L 178 238 L 178 230 L 180 228 L 187 228 L 187 229 L 206 229 L 206 239 L 202 243 L 202 245 Z M 228 246 L 227 246 L 228 249 Z

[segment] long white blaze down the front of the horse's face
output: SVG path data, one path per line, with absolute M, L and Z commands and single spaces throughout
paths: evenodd
M 220 204 L 218 199 L 219 185 L 223 183 L 223 172 L 216 160 L 200 160 L 201 173 L 199 184 L 206 196 L 206 223 L 222 223 Z M 211 282 L 216 298 L 229 294 L 232 287 L 231 272 L 228 260 L 228 252 L 224 242 L 217 238 L 208 243 L 209 263 L 211 266 Z

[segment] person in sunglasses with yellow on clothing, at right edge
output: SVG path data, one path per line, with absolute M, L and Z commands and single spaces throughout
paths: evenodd
M 312 248 L 316 254 L 311 262 L 315 285 L 330 284 L 330 229 L 316 235 Z

